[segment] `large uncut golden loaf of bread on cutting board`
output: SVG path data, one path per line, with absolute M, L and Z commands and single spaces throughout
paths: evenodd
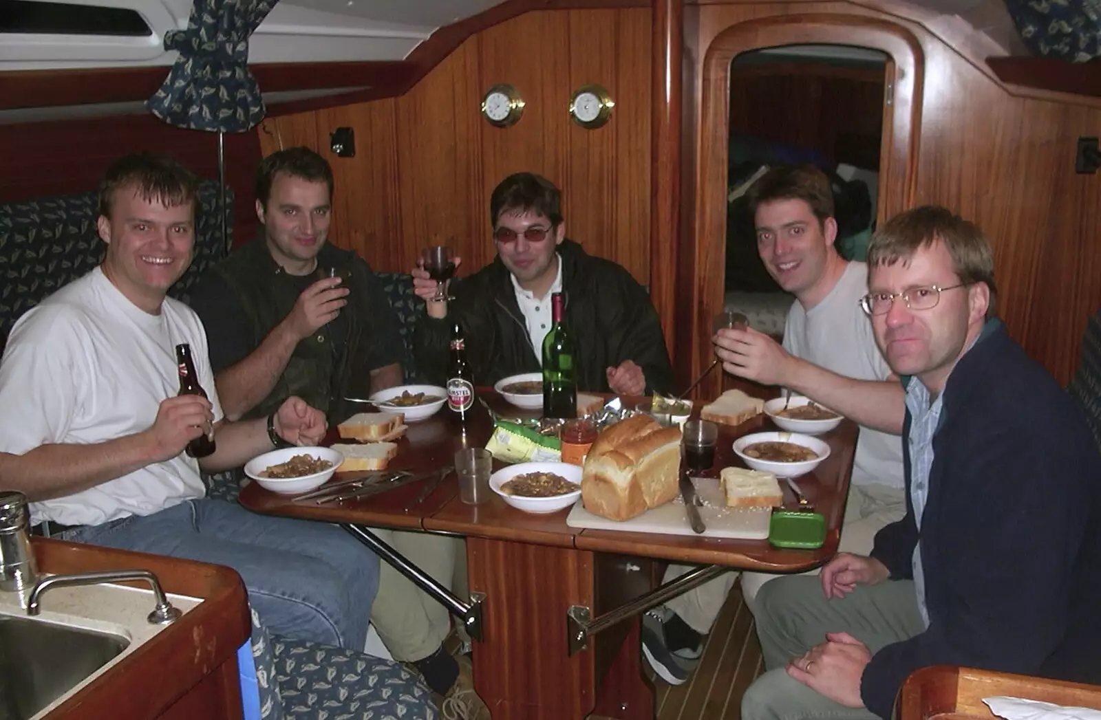
M 589 448 L 581 502 L 595 515 L 630 520 L 679 492 L 680 429 L 647 415 L 617 423 Z

